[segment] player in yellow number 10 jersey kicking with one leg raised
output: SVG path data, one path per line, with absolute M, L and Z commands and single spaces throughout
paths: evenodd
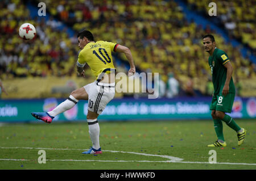
M 81 51 L 77 60 L 77 73 L 84 77 L 84 68 L 88 64 L 96 81 L 71 92 L 67 100 L 49 112 L 32 112 L 36 119 L 51 123 L 53 118 L 60 113 L 71 109 L 79 100 L 88 100 L 88 121 L 92 147 L 83 154 L 100 154 L 100 126 L 97 117 L 102 113 L 106 104 L 114 98 L 115 94 L 115 67 L 112 52 L 125 53 L 130 64 L 129 75 L 135 73 L 133 56 L 129 48 L 107 41 L 94 41 L 93 34 L 84 30 L 78 33 L 77 40 Z

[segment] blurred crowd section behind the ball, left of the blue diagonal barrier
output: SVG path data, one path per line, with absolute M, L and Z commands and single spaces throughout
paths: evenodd
M 26 5 L 19 1 L 0 3 L 1 57 L 0 74 L 11 77 L 45 77 L 72 75 L 77 48 L 65 31 L 55 29 L 51 20 L 31 19 Z M 36 27 L 35 40 L 20 39 L 18 31 L 23 23 Z

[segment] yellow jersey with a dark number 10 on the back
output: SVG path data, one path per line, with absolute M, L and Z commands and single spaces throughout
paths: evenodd
M 108 41 L 90 42 L 80 51 L 77 66 L 82 68 L 88 64 L 99 81 L 102 74 L 115 72 L 112 52 L 117 46 L 118 44 Z

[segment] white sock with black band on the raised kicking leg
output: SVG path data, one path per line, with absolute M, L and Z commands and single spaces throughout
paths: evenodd
M 59 106 L 55 107 L 54 110 L 47 112 L 50 116 L 57 116 L 60 113 L 63 113 L 67 110 L 70 110 L 72 107 L 74 107 L 76 105 L 76 103 L 79 100 L 77 100 L 76 98 L 74 98 L 72 95 L 69 96 L 69 98 L 67 100 L 65 100 L 64 102 L 60 103 Z

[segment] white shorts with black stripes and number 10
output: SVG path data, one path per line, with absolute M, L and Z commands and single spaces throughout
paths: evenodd
M 99 115 L 115 95 L 115 83 L 95 81 L 84 86 L 84 89 L 88 94 L 88 110 Z

